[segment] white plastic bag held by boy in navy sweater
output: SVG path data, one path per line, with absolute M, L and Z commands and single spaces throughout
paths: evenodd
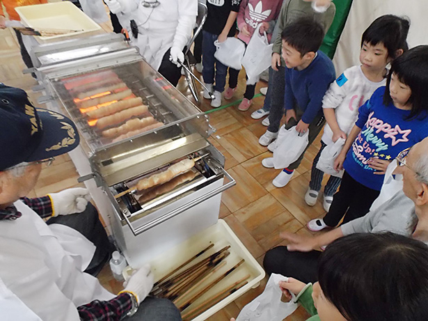
M 276 139 L 274 149 L 274 166 L 276 169 L 286 169 L 295 162 L 309 143 L 309 130 L 304 134 L 296 131 L 296 126 L 286 130 L 283 125 Z

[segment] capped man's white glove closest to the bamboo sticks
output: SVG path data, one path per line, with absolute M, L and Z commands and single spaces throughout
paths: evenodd
M 124 292 L 131 292 L 136 296 L 138 304 L 143 302 L 153 288 L 154 277 L 150 268 L 150 264 L 143 265 L 141 269 L 134 270 L 131 278 L 123 283 L 125 286 Z

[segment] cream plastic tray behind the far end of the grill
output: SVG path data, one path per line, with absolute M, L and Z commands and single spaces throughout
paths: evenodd
M 73 33 L 65 33 L 57 36 L 42 37 L 38 40 L 63 40 L 82 33 L 100 31 L 101 26 L 84 14 L 82 10 L 74 6 L 70 1 L 44 3 L 33 6 L 21 6 L 15 8 L 22 23 L 35 30 L 38 29 L 68 29 L 81 30 Z

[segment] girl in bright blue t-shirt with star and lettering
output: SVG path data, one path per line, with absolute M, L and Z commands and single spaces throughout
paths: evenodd
M 427 75 L 428 45 L 415 47 L 393 61 L 386 87 L 360 107 L 335 159 L 335 169 L 343 168 L 344 175 L 330 210 L 317 222 L 320 227 L 364 216 L 379 196 L 388 164 L 428 136 Z

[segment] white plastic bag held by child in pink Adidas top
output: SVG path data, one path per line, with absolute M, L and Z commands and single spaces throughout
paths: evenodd
M 273 44 L 269 45 L 266 32 L 260 35 L 260 26 L 261 24 L 257 26 L 251 36 L 242 59 L 242 65 L 248 77 L 247 84 L 251 85 L 255 84 L 259 75 L 271 65 Z

